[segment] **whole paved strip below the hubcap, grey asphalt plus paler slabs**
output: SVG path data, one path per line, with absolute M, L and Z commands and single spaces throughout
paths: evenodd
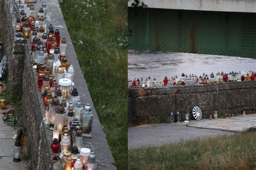
M 234 134 L 256 126 L 256 114 L 190 120 L 190 123 L 150 124 L 128 129 L 128 148 L 161 146 L 192 138 Z

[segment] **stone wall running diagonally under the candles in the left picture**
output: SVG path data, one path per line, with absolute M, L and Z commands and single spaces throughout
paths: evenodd
M 43 0 L 38 0 L 35 10 L 39 10 Z M 59 164 L 53 161 L 51 153 L 52 131 L 48 130 L 43 123 L 44 107 L 41 93 L 37 90 L 36 71 L 31 64 L 31 43 L 26 39 L 15 37 L 16 18 L 13 11 L 12 0 L 2 0 L 3 11 L 3 46 L 4 54 L 8 55 L 8 80 L 7 86 L 12 97 L 22 93 L 23 119 L 26 125 L 26 132 L 31 142 L 32 169 L 62 169 Z M 90 93 L 87 89 L 82 70 L 80 69 L 75 49 L 72 45 L 68 29 L 59 8 L 57 0 L 48 2 L 47 24 L 52 23 L 54 29 L 60 30 L 60 36 L 67 40 L 67 57 L 69 64 L 75 69 L 75 87 L 83 104 L 90 103 L 93 111 L 92 139 L 84 139 L 84 147 L 95 151 L 96 161 L 99 169 L 116 169 L 114 160 L 107 145 L 107 140 L 98 115 L 93 106 Z

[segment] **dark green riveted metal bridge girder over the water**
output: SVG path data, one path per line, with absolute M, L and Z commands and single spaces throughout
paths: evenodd
M 129 8 L 129 48 L 256 58 L 256 13 Z

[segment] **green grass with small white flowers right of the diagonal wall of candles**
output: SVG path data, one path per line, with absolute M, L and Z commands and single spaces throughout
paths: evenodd
M 127 169 L 127 1 L 60 3 L 118 169 Z

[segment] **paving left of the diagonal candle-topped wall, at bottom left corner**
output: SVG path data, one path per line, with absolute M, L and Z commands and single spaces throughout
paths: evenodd
M 0 96 L 0 98 L 3 98 Z M 8 105 L 6 110 L 0 108 L 0 169 L 8 170 L 23 170 L 26 167 L 25 162 L 14 162 L 14 144 L 15 139 L 12 139 L 12 127 L 4 124 L 3 112 L 12 109 L 13 106 Z

